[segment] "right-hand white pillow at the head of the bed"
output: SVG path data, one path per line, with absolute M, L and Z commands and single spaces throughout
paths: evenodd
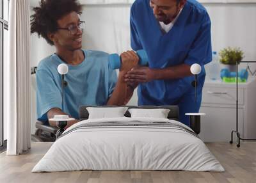
M 128 109 L 132 118 L 167 118 L 170 109 Z

